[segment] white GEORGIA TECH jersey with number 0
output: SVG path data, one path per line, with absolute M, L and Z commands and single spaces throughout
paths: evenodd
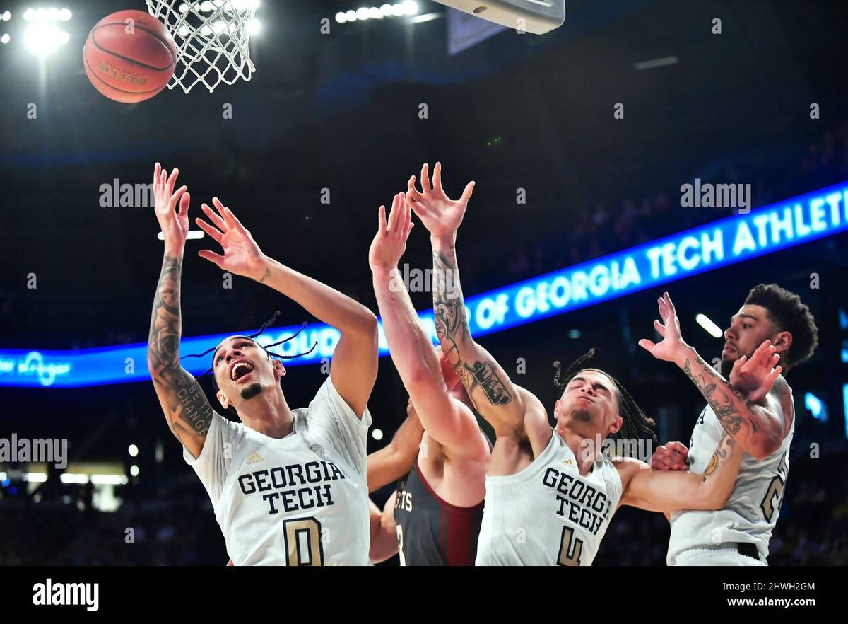
M 203 482 L 234 565 L 368 565 L 362 419 L 327 377 L 276 439 L 213 416 L 203 451 L 183 457 Z

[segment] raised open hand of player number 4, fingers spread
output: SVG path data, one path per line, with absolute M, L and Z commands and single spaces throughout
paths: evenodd
M 407 186 L 406 201 L 432 236 L 449 236 L 459 229 L 474 190 L 473 182 L 466 184 L 459 200 L 449 199 L 442 188 L 442 164 L 437 162 L 432 171 L 432 186 L 427 163 L 421 167 L 421 192 L 416 189 L 415 176 L 410 177 Z

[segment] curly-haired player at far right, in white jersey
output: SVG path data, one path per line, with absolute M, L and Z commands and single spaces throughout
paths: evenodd
M 650 340 L 639 344 L 654 357 L 682 368 L 707 405 L 689 449 L 672 442 L 656 451 L 651 465 L 702 473 L 709 470 L 709 448 L 728 434 L 745 453 L 723 509 L 671 515 L 667 564 L 767 565 L 768 541 L 780 514 L 795 433 L 792 390 L 781 370 L 788 373 L 812 356 L 818 343 L 815 319 L 795 293 L 777 284 L 759 284 L 724 331 L 722 374 L 718 374 L 683 342 L 668 294 L 658 302 L 665 337 L 659 345 Z M 776 367 L 778 360 L 782 366 Z

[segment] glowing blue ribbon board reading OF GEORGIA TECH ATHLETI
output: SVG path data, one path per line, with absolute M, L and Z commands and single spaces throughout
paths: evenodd
M 640 290 L 659 291 L 663 284 L 678 279 L 846 231 L 848 183 L 841 183 L 469 296 L 466 311 L 471 334 L 492 334 Z M 419 312 L 419 318 L 431 339 L 436 340 L 432 309 Z M 259 342 L 268 345 L 293 336 L 298 329 L 299 325 L 270 329 L 259 337 Z M 650 325 L 645 331 L 649 330 Z M 385 356 L 388 346 L 382 327 L 380 331 L 380 353 Z M 180 351 L 200 353 L 237 333 L 251 332 L 230 330 L 187 337 L 181 340 Z M 338 329 L 314 323 L 278 348 L 281 355 L 293 356 L 287 366 L 321 363 L 321 358 L 332 357 L 338 339 Z M 309 355 L 294 357 L 310 351 L 315 342 L 318 344 Z M 0 350 L 0 386 L 77 388 L 132 381 L 149 383 L 147 367 L 136 364 L 131 372 L 127 368 L 129 360 L 143 363 L 146 359 L 145 343 L 78 351 Z M 183 362 L 192 374 L 203 374 L 209 368 L 203 358 Z

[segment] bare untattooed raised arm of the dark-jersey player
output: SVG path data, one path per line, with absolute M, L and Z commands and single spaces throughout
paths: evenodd
M 394 196 L 388 222 L 386 207 L 380 206 L 369 264 L 388 351 L 427 435 L 444 446 L 450 459 L 484 458 L 488 443 L 471 410 L 450 396 L 436 351 L 398 277 L 398 262 L 412 226 L 403 193 Z

